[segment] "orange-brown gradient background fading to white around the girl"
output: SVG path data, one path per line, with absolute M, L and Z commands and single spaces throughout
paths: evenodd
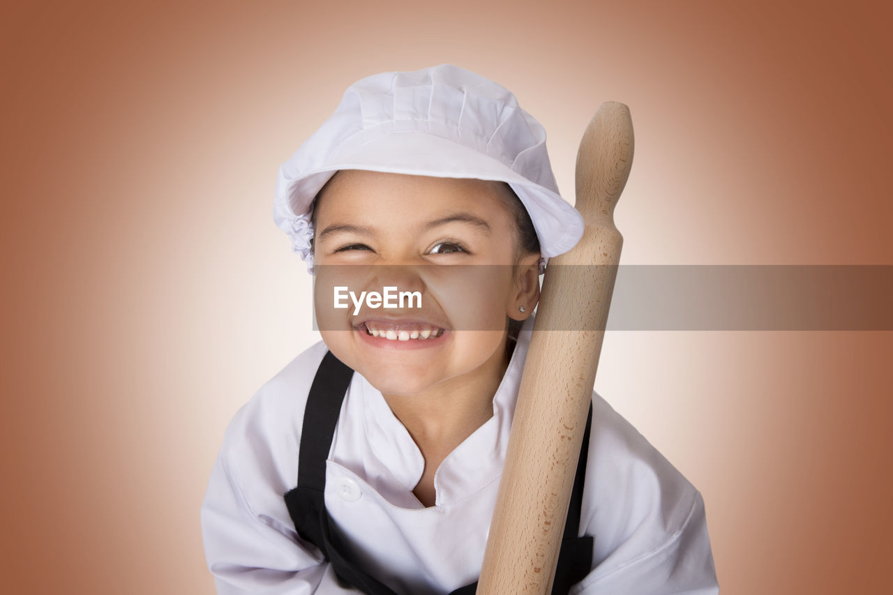
M 317 340 L 279 164 L 374 72 L 456 63 L 559 188 L 630 106 L 624 264 L 893 264 L 888 3 L 7 3 L 0 591 L 212 595 L 230 417 Z M 705 498 L 722 592 L 893 558 L 893 333 L 610 332 L 596 389 Z

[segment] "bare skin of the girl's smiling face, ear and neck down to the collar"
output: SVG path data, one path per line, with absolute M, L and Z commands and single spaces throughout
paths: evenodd
M 517 198 L 504 182 L 348 170 L 316 200 L 318 304 L 328 305 L 327 264 L 362 265 L 351 286 L 424 296 L 419 309 L 367 307 L 341 315 L 340 325 L 319 314 L 318 322 L 330 351 L 382 392 L 420 448 L 413 493 L 434 506 L 438 466 L 493 415 L 511 355 L 506 318 L 527 318 L 522 306 L 537 303 L 539 253 L 520 245 Z

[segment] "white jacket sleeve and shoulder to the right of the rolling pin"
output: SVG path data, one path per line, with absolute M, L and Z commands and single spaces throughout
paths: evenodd
M 719 592 L 700 492 L 596 392 L 592 414 L 580 524 L 593 566 L 571 592 Z

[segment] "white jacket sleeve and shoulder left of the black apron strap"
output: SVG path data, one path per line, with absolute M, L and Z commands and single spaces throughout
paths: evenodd
M 267 592 L 262 582 L 270 587 L 271 577 L 289 592 L 319 582 L 308 569 L 322 568 L 321 554 L 295 531 L 283 495 L 297 481 L 307 394 L 326 351 L 319 342 L 296 356 L 227 426 L 201 508 L 205 557 L 221 593 Z

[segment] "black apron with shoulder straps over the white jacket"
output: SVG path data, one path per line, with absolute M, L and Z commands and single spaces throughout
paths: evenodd
M 326 486 L 326 459 L 329 457 L 341 403 L 344 401 L 353 374 L 354 371 L 331 352 L 327 352 L 322 358 L 307 398 L 298 453 L 297 487 L 288 490 L 285 502 L 288 506 L 288 515 L 295 523 L 298 534 L 321 550 L 339 579 L 368 595 L 396 595 L 395 591 L 363 572 L 359 566 L 345 557 L 342 552 L 347 549 L 339 543 L 337 532 L 331 531 L 323 498 Z M 566 595 L 572 585 L 583 580 L 592 566 L 592 536 L 577 537 L 591 424 L 592 406 L 589 406 L 589 419 L 583 434 L 580 462 L 573 482 L 571 505 L 568 508 L 561 552 L 555 569 L 553 595 Z M 456 589 L 450 595 L 473 595 L 477 587 L 478 583 L 472 582 Z

